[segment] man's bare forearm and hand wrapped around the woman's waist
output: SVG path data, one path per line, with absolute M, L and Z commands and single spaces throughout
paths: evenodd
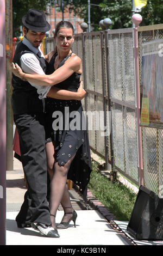
M 83 89 L 83 82 L 80 82 L 77 92 L 70 92 L 69 90 L 62 90 L 57 87 L 52 87 L 47 96 L 59 100 L 82 100 L 85 94 L 86 92 Z

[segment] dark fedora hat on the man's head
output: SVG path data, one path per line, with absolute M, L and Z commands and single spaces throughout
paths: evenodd
M 51 28 L 46 21 L 45 13 L 36 9 L 29 9 L 27 15 L 22 17 L 22 22 L 25 27 L 36 32 L 46 32 Z

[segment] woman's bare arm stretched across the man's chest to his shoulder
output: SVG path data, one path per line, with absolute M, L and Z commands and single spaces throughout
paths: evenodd
M 53 72 L 51 75 L 26 74 L 22 72 L 20 66 L 12 63 L 12 72 L 14 75 L 20 77 L 24 81 L 35 83 L 41 86 L 53 86 L 66 80 L 74 72 L 82 72 L 82 62 L 78 56 L 72 56 L 65 62 L 64 65 L 55 70 L 55 72 Z

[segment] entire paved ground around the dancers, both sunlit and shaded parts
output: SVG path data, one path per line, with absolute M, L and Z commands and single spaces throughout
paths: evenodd
M 32 228 L 17 228 L 15 217 L 20 210 L 26 190 L 22 164 L 14 159 L 14 170 L 7 171 L 7 245 L 55 245 L 58 250 L 63 250 L 66 246 L 70 249 L 71 246 L 72 248 L 80 246 L 77 247 L 80 250 L 81 246 L 87 245 L 90 248 L 98 246 L 99 250 L 109 252 L 107 246 L 111 245 L 163 244 L 161 241 L 134 240 L 126 231 L 128 222 L 116 221 L 115 216 L 93 196 L 91 191 L 87 193 L 90 209 L 87 210 L 77 188 L 70 190 L 71 202 L 78 214 L 76 228 L 71 222 L 68 229 L 59 230 L 59 238 L 45 237 Z M 62 216 L 63 211 L 59 206 L 57 223 L 60 222 Z

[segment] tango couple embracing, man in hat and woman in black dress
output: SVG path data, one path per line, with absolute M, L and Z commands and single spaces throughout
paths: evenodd
M 24 38 L 18 43 L 12 63 L 11 97 L 14 122 L 20 139 L 21 161 L 28 190 L 16 217 L 17 226 L 32 227 L 48 237 L 59 237 L 58 229 L 76 227 L 67 179 L 79 185 L 86 198 L 91 158 L 86 130 L 55 127 L 55 111 L 80 113 L 85 96 L 81 81 L 82 62 L 72 52 L 74 29 L 61 21 L 55 28 L 56 50 L 43 56 L 40 44 L 50 26 L 45 13 L 29 9 L 22 18 Z M 55 112 L 56 113 L 56 112 Z M 63 118 L 66 120 L 66 118 Z M 68 119 L 70 121 L 73 118 Z M 47 202 L 47 170 L 51 179 Z M 61 223 L 55 223 L 59 205 L 64 209 Z

